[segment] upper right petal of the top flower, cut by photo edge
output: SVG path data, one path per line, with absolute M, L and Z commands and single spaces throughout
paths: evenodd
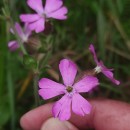
M 45 11 L 46 13 L 51 13 L 58 10 L 62 5 L 62 0 L 46 0 Z

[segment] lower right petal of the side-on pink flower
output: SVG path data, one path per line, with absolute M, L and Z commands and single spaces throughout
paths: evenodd
M 107 77 L 109 78 L 113 83 L 115 83 L 116 85 L 119 85 L 120 84 L 120 81 L 116 80 L 114 78 L 114 75 L 111 71 L 104 71 L 102 70 L 102 73 Z

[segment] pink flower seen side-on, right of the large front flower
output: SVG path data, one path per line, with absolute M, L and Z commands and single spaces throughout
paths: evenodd
M 89 50 L 92 52 L 94 60 L 97 64 L 97 67 L 95 68 L 95 72 L 96 73 L 102 72 L 113 83 L 115 83 L 116 85 L 119 85 L 120 82 L 113 77 L 113 73 L 112 73 L 113 69 L 108 69 L 106 66 L 104 66 L 102 61 L 98 61 L 93 44 L 90 45 Z

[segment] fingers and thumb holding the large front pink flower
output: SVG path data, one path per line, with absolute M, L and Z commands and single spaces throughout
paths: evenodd
M 80 117 L 72 113 L 69 121 L 52 117 L 53 104 L 35 108 L 20 120 L 24 130 L 130 130 L 130 104 L 115 100 L 91 100 L 89 115 Z

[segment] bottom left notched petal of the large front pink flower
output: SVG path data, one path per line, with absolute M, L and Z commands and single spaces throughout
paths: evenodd
M 63 96 L 54 104 L 52 113 L 55 118 L 59 118 L 60 120 L 69 120 L 71 116 L 71 98 L 67 95 Z

